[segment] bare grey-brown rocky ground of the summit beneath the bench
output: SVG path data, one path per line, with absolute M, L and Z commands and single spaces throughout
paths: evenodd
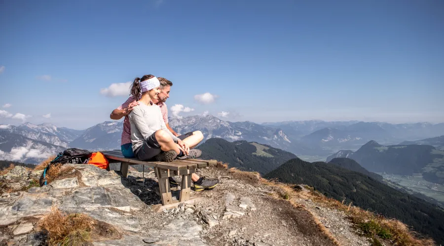
M 279 198 L 278 187 L 260 183 L 254 174 L 223 167 L 198 170 L 201 176 L 219 178 L 220 185 L 192 191 L 191 197 L 202 198 L 201 203 L 156 213 L 153 205 L 160 203 L 160 197 L 153 172 L 145 173 L 142 186 L 142 173 L 135 169 L 122 178 L 119 172 L 92 165 L 72 167 L 63 179 L 43 187 L 29 187 L 41 171 L 15 167 L 0 176 L 1 184 L 11 187 L 0 198 L 0 244 L 44 244 L 38 221 L 55 206 L 115 226 L 121 238 L 94 242 L 100 246 L 334 245 L 329 235 L 340 245 L 370 245 L 341 212 L 320 207 L 305 199 L 303 192 L 296 201 L 300 206 L 294 206 Z M 179 187 L 172 189 L 178 195 Z

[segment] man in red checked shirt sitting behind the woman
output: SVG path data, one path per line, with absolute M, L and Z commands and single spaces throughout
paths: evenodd
M 171 131 L 175 136 L 180 138 L 185 143 L 185 149 L 180 149 L 184 153 L 188 153 L 189 149 L 192 149 L 196 147 L 200 141 L 203 140 L 203 134 L 201 131 L 193 131 L 188 132 L 183 135 L 179 135 L 176 131 L 174 131 L 170 125 L 168 124 L 168 109 L 165 104 L 165 101 L 170 97 L 170 90 L 173 86 L 173 83 L 165 78 L 157 77 L 157 79 L 160 82 L 160 93 L 157 95 L 158 101 L 152 101 L 152 103 L 159 106 L 160 111 L 162 112 L 163 120 L 165 121 L 165 125 L 168 128 L 168 130 Z M 128 114 L 133 110 L 133 107 L 136 105 L 139 105 L 137 102 L 140 100 L 139 98 L 135 98 L 134 96 L 130 96 L 122 105 L 120 105 L 118 108 L 114 109 L 111 112 L 110 118 L 112 120 L 120 120 L 122 117 L 125 117 L 123 120 L 123 131 L 122 131 L 122 138 L 121 138 L 121 151 L 123 156 L 128 158 L 134 158 L 134 153 L 132 150 L 132 143 L 131 143 L 131 124 L 129 123 Z M 193 157 L 193 156 L 188 156 Z M 178 159 L 181 157 L 178 157 Z M 214 188 L 218 183 L 219 180 L 206 180 L 204 178 L 199 177 L 195 173 L 192 174 L 191 180 L 194 184 L 194 190 L 195 191 L 201 191 L 204 189 L 212 189 Z M 180 183 L 173 177 L 170 177 L 170 184 L 180 185 Z

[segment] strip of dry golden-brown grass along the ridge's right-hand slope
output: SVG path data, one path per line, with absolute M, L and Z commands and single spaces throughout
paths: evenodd
M 256 173 L 240 171 L 235 168 L 229 169 L 231 173 L 237 176 L 244 176 L 248 180 L 256 176 Z M 365 211 L 359 207 L 355 207 L 350 204 L 345 204 L 344 201 L 341 203 L 333 198 L 328 198 L 318 191 L 314 190 L 312 187 L 305 186 L 308 192 L 300 192 L 294 189 L 294 185 L 279 183 L 275 180 L 266 180 L 258 177 L 258 182 L 267 186 L 273 186 L 277 188 L 277 194 L 273 194 L 275 199 L 285 199 L 289 200 L 295 207 L 303 208 L 299 203 L 295 202 L 294 198 L 310 198 L 314 202 L 323 204 L 325 207 L 337 209 L 344 211 L 350 218 L 350 221 L 361 231 L 363 235 L 369 237 L 373 242 L 373 245 L 382 245 L 380 241 L 389 241 L 392 245 L 398 246 L 433 246 L 436 245 L 435 242 L 430 238 L 421 238 L 421 235 L 410 230 L 408 226 L 399 220 L 388 219 L 383 216 L 375 215 L 369 211 Z M 305 209 L 307 210 L 307 209 Z M 332 233 L 322 225 L 319 219 L 307 210 L 311 215 L 313 215 L 314 221 L 318 224 L 319 229 L 324 232 L 324 234 L 329 237 L 335 245 L 340 245 L 339 242 L 334 238 Z

